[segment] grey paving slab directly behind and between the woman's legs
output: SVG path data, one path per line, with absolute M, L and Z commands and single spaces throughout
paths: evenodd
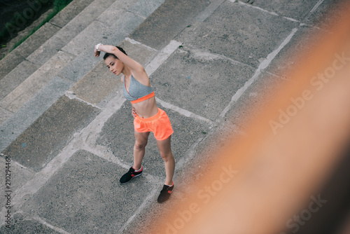
M 190 146 L 195 144 L 198 138 L 207 134 L 210 126 L 207 123 L 195 121 L 193 118 L 188 118 L 166 109 L 160 104 L 158 106 L 167 112 L 172 122 L 172 128 L 174 130 L 174 134 L 172 135 L 172 151 L 175 160 L 180 160 L 183 158 L 184 153 L 190 149 Z M 116 157 L 130 166 L 132 166 L 133 162 L 135 142 L 131 109 L 131 104 L 125 102 L 122 108 L 106 122 L 97 140 L 97 144 L 107 146 Z M 164 161 L 160 157 L 153 133 L 148 137 L 148 145 L 146 146 L 146 155 L 143 162 L 145 172 L 165 179 Z M 121 174 L 118 176 L 121 176 Z

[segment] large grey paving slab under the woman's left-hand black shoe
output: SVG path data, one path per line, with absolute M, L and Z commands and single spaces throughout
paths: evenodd
M 123 173 L 78 151 L 23 207 L 69 233 L 117 233 L 153 188 L 143 176 L 122 186 L 116 175 Z

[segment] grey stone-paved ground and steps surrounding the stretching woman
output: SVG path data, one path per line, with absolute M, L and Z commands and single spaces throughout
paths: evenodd
M 73 0 L 0 62 L 1 173 L 6 155 L 12 170 L 9 188 L 0 181 L 1 194 L 10 191 L 0 233 L 165 233 L 152 221 L 193 194 L 188 182 L 211 153 L 244 135 L 261 99 L 288 84 L 291 54 L 331 32 L 327 12 L 337 15 L 339 2 Z M 144 65 L 172 121 L 175 188 L 165 204 L 152 134 L 144 174 L 119 184 L 132 165 L 131 105 L 120 77 L 93 56 L 98 42 Z

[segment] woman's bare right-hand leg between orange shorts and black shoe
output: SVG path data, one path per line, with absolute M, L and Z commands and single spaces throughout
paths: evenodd
M 175 170 L 175 159 L 172 153 L 172 146 L 170 143 L 171 137 L 172 136 L 162 141 L 157 140 L 160 156 L 162 157 L 165 163 L 165 174 L 167 175 L 167 178 L 165 179 L 166 185 L 172 185 Z

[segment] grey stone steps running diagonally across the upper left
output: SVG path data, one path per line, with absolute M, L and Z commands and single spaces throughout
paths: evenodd
M 6 55 L 0 61 L 0 151 L 99 64 L 94 44 L 120 44 L 162 2 L 73 0 Z

